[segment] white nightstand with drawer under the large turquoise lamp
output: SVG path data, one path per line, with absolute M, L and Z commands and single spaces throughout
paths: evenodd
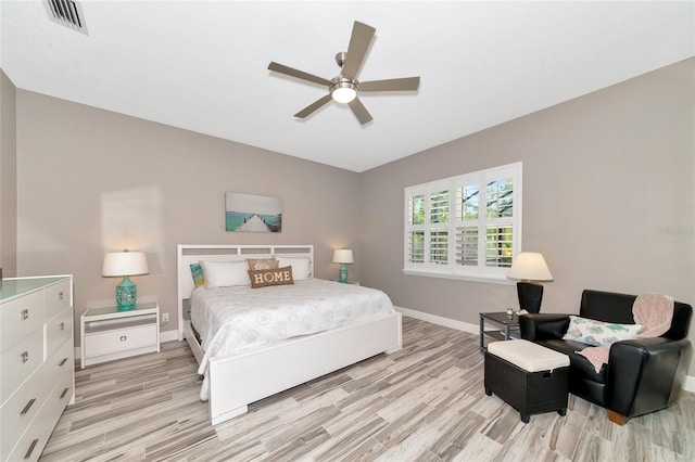
M 160 350 L 160 306 L 92 308 L 80 317 L 81 368 Z

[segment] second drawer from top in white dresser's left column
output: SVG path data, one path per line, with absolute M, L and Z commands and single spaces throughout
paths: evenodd
M 2 352 L 1 401 L 7 399 L 43 364 L 43 329 L 34 331 L 22 342 Z

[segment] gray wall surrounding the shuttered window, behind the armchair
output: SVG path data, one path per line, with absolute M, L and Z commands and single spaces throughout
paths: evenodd
M 522 161 L 523 249 L 555 277 L 542 311 L 577 313 L 583 288 L 695 303 L 694 112 L 691 59 L 362 174 L 362 281 L 471 324 L 518 306 L 514 285 L 401 272 L 403 189 Z

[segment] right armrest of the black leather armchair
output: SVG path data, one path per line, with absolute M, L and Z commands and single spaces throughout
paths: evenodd
M 610 347 L 606 408 L 626 418 L 671 405 L 679 396 L 691 362 L 686 338 L 634 338 Z

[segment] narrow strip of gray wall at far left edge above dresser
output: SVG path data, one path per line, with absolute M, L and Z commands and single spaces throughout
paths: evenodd
M 0 268 L 16 274 L 17 182 L 15 88 L 0 69 Z

